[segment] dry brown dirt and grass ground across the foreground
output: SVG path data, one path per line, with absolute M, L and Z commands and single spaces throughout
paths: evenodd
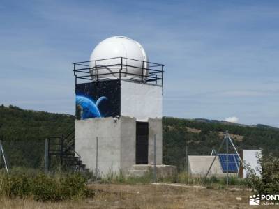
M 1 199 L 0 208 L 271 208 L 249 206 L 247 190 L 204 189 L 171 185 L 91 185 L 92 199 L 40 203 Z

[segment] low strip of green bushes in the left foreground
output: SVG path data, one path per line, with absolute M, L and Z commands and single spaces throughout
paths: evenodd
M 0 176 L 0 196 L 24 198 L 32 196 L 36 201 L 63 201 L 93 196 L 79 173 L 66 176 L 46 176 L 43 173 L 27 176 L 13 173 Z

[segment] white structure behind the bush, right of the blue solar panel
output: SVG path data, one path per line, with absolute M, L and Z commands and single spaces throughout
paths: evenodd
M 258 171 L 258 169 L 260 169 L 258 156 L 262 156 L 262 150 L 241 150 L 240 156 L 244 164 L 249 164 L 250 168 L 253 169 L 257 175 L 260 175 Z M 246 178 L 247 173 L 247 169 L 241 167 L 240 176 Z

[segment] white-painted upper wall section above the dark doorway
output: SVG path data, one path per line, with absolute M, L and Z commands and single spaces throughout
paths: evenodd
M 121 80 L 121 116 L 147 121 L 162 118 L 161 86 Z

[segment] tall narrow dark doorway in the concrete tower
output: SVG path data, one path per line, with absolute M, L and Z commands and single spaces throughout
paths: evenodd
M 147 122 L 137 122 L 136 125 L 136 164 L 148 164 L 148 134 L 149 124 Z

